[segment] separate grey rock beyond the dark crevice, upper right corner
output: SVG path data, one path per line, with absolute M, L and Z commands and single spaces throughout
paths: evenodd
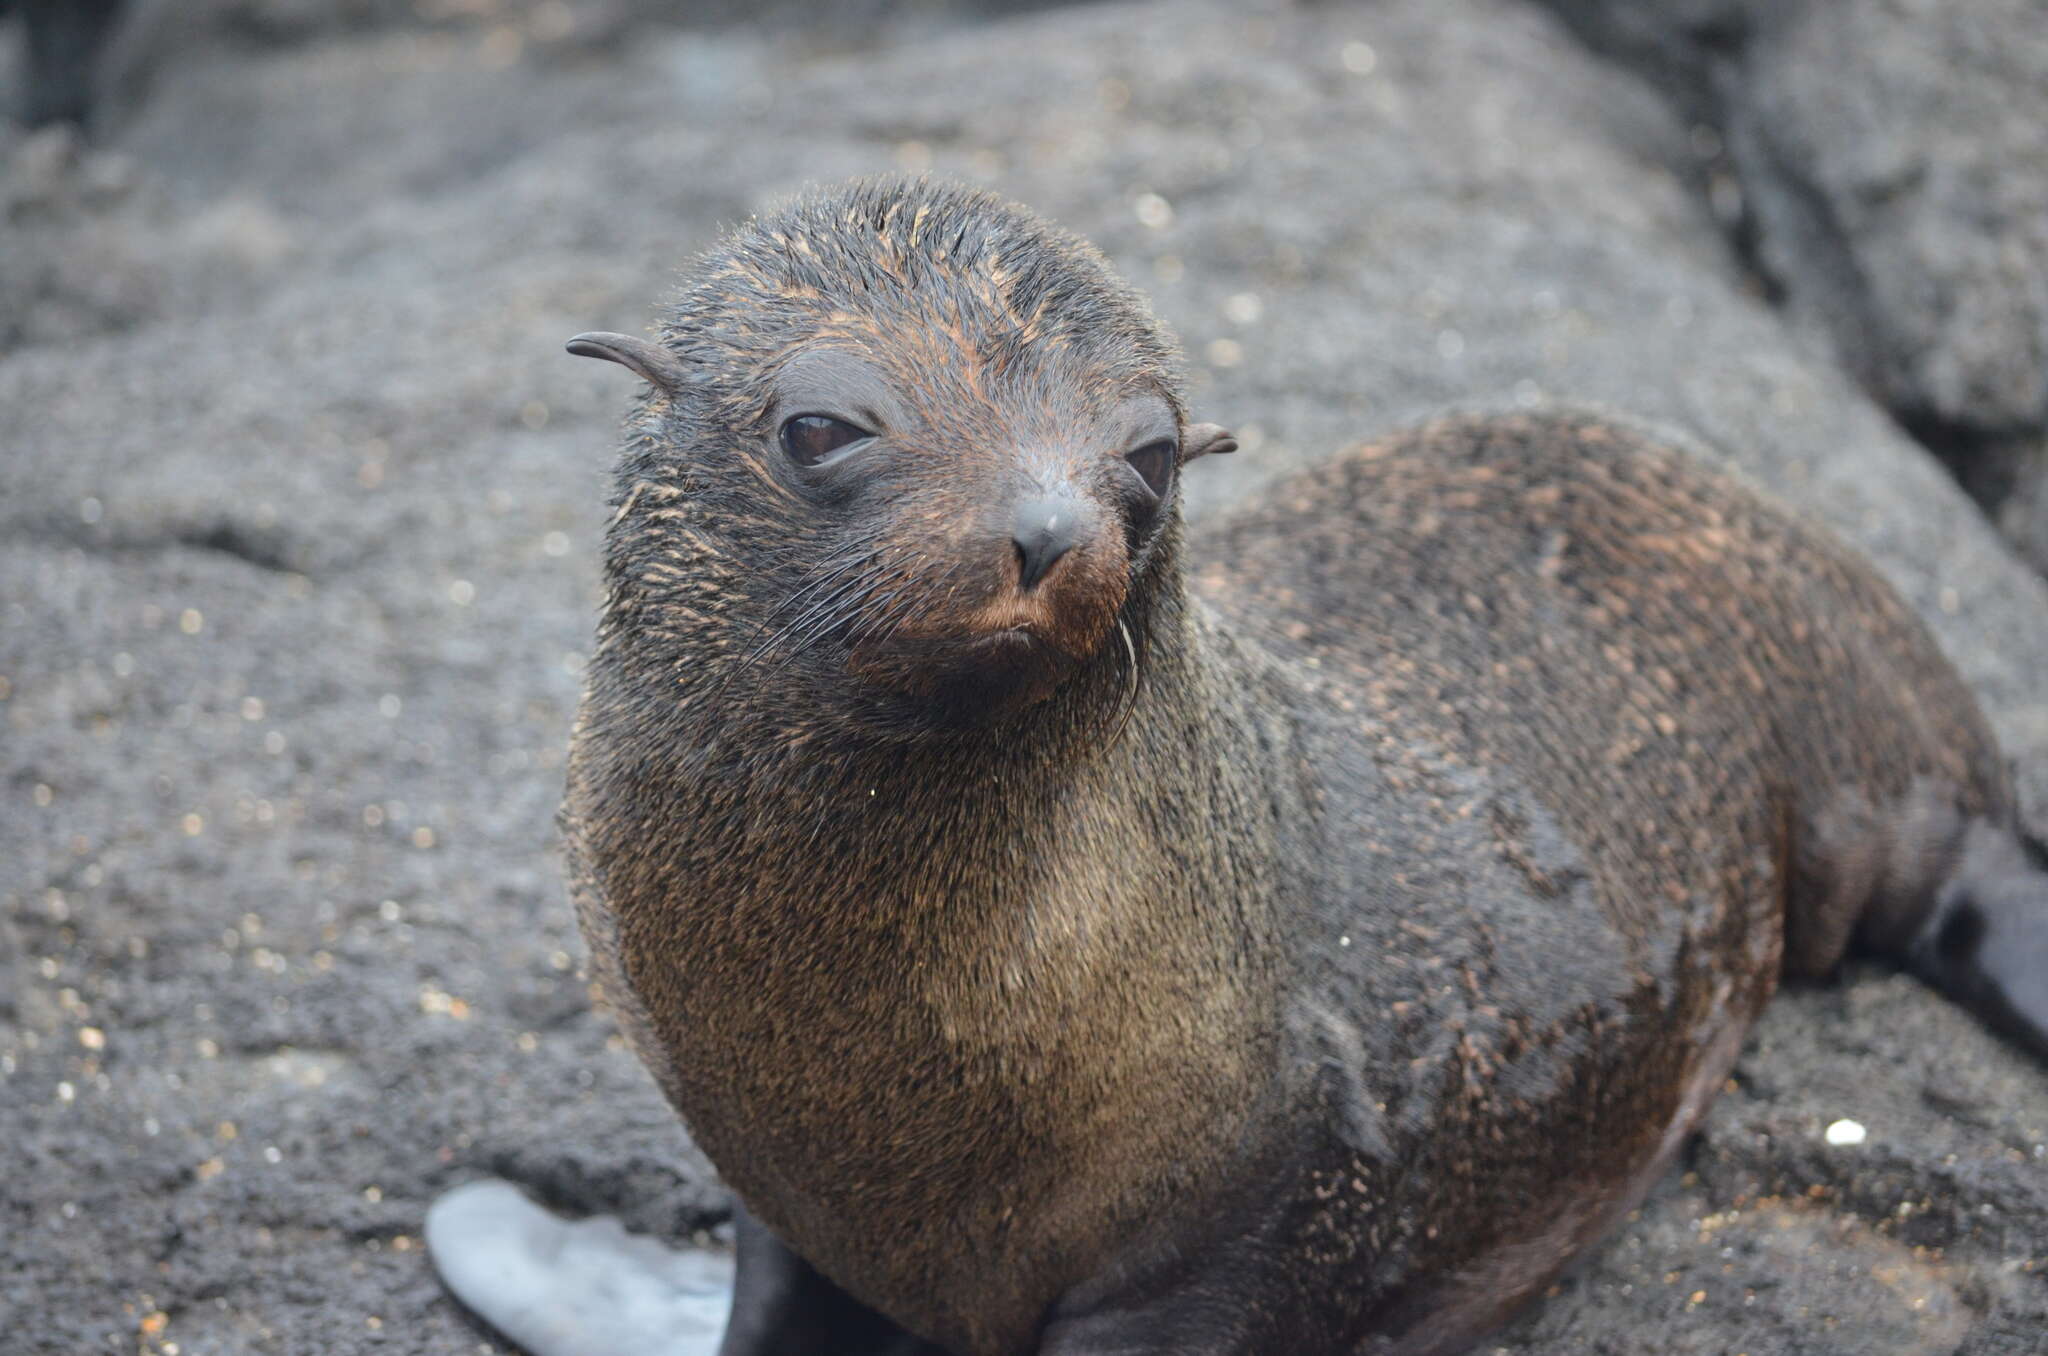
M 2048 434 L 2040 0 L 1550 4 L 1724 141 L 1755 266 L 1880 404 L 1966 477 Z

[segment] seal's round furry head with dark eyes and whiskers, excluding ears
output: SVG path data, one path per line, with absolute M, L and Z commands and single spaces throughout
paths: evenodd
M 1102 649 L 1171 518 L 1171 344 L 1092 248 L 983 195 L 741 227 L 664 348 L 629 479 L 676 500 L 612 537 L 721 701 L 891 737 L 1012 715 Z

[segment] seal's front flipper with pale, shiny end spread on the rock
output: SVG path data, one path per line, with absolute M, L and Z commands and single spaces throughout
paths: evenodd
M 614 1219 L 571 1223 L 510 1182 L 469 1182 L 426 1213 L 426 1249 L 455 1297 L 532 1356 L 942 1356 L 745 1211 L 735 1225 L 737 1276 L 723 1254 L 670 1249 Z

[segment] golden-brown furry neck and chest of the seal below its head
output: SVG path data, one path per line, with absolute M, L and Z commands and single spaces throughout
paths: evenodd
M 698 1147 L 827 1274 L 874 1272 L 879 1217 L 985 1229 L 965 1252 L 1022 1299 L 961 1331 L 1028 1325 L 1223 1190 L 1280 1096 L 1286 703 L 1161 565 L 1124 617 L 1135 696 L 1116 641 L 942 739 L 664 737 L 659 690 L 592 670 L 567 836 L 629 1030 Z M 958 1235 L 932 1237 L 952 1266 Z

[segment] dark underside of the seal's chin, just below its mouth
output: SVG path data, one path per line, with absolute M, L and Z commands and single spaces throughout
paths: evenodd
M 856 645 L 848 670 L 915 723 L 987 725 L 1051 696 L 1081 658 L 1026 627 L 965 639 L 895 639 Z

